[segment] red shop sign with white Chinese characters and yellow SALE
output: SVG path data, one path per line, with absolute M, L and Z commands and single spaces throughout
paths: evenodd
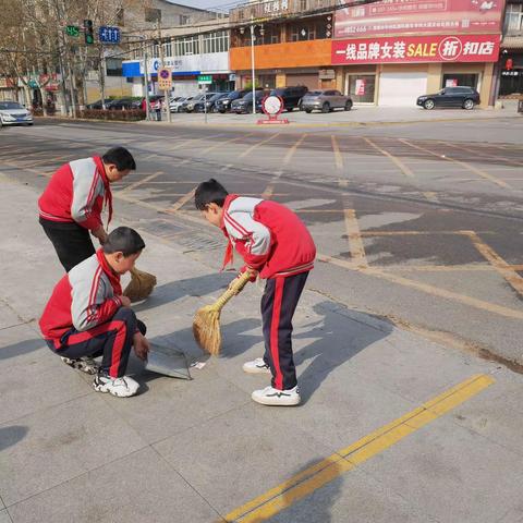
M 497 62 L 499 35 L 332 40 L 332 63 Z

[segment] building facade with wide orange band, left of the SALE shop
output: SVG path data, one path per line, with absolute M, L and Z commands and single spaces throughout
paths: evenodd
M 333 20 L 332 12 L 325 11 L 333 3 L 335 0 L 270 0 L 233 9 L 230 17 L 235 27 L 231 31 L 230 61 L 236 87 L 252 85 L 252 41 L 256 83 L 260 87 L 333 86 L 330 66 Z M 304 12 L 312 14 L 302 15 Z M 251 24 L 251 20 L 263 23 Z

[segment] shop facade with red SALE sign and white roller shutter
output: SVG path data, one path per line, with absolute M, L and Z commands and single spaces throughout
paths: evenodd
M 335 16 L 337 85 L 355 102 L 412 106 L 446 86 L 494 105 L 501 1 L 384 0 Z

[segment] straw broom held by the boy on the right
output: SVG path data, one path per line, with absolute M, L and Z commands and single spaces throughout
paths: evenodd
M 231 297 L 240 293 L 251 279 L 247 270 L 238 277 L 229 289 L 212 304 L 196 311 L 193 320 L 193 335 L 196 343 L 209 354 L 216 356 L 221 349 L 220 314 Z

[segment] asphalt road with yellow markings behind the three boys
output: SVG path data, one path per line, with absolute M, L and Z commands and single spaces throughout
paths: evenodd
M 48 121 L 1 130 L 0 170 L 42 188 L 59 165 L 124 145 L 138 170 L 114 187 L 119 218 L 216 269 L 223 239 L 194 210 L 198 182 L 285 203 L 317 243 L 318 293 L 518 368 L 522 135 L 518 119 L 306 130 Z

